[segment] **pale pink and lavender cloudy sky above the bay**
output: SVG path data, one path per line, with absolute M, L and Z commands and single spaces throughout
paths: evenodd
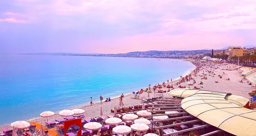
M 256 0 L 0 0 L 0 53 L 256 45 Z

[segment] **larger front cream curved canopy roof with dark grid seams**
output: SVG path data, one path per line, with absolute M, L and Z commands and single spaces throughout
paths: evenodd
M 196 93 L 184 98 L 181 107 L 198 119 L 236 136 L 256 136 L 256 111 L 233 103 L 233 96 L 227 95 Z M 239 98 L 235 95 L 234 101 L 240 101 Z

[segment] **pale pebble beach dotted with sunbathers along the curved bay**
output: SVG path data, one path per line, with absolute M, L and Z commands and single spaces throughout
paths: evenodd
M 250 93 L 252 90 L 255 90 L 255 87 L 253 85 L 248 85 L 246 80 L 243 80 L 245 83 L 240 83 L 241 79 L 243 79 L 243 76 L 241 76 L 242 70 L 223 70 L 226 69 L 226 64 L 213 64 L 213 63 L 200 63 L 200 62 L 194 62 L 192 61 L 193 64 L 197 67 L 195 70 L 191 70 L 190 74 L 192 75 L 192 78 L 195 79 L 196 83 L 193 84 L 193 81 L 186 81 L 185 83 L 180 83 L 178 85 L 181 86 L 186 86 L 190 88 L 199 87 L 201 90 L 210 90 L 210 91 L 218 91 L 218 92 L 224 92 L 224 93 L 232 93 L 234 95 L 241 95 L 247 98 L 250 98 L 248 93 Z M 229 64 L 230 65 L 230 64 Z M 237 67 L 236 65 L 232 65 L 233 67 Z M 197 73 L 195 74 L 195 71 Z M 214 77 L 213 77 L 213 74 Z M 224 73 L 223 73 L 224 72 Z M 204 75 L 207 77 L 207 79 L 201 79 L 204 76 L 199 76 L 199 75 Z M 210 75 L 209 75 L 210 74 Z M 196 76 L 195 76 L 196 75 Z M 221 75 L 222 78 L 219 78 L 217 75 Z M 230 80 L 225 80 L 227 78 L 230 78 Z M 172 85 L 175 89 L 179 88 L 178 85 L 175 85 L 180 79 L 177 79 L 176 81 L 172 81 L 169 79 L 169 84 Z M 167 79 L 163 79 L 166 84 Z M 200 81 L 203 82 L 203 84 L 199 84 Z M 215 83 L 215 81 L 218 81 L 218 83 Z M 155 83 L 157 84 L 157 83 Z M 159 84 L 162 84 L 159 82 Z M 193 84 L 188 86 L 188 84 Z M 151 84 L 151 90 L 153 88 L 153 84 Z M 158 89 L 157 89 L 158 90 Z M 167 92 L 168 88 L 162 88 L 161 90 L 164 90 Z M 132 91 L 131 91 L 132 92 Z M 118 94 L 117 94 L 118 95 Z M 119 94 L 121 95 L 121 94 Z M 158 96 L 168 96 L 167 93 L 155 93 L 155 95 Z M 142 93 L 140 95 L 140 98 L 135 99 L 134 94 L 125 94 L 125 97 L 123 98 L 123 104 L 124 106 L 131 106 L 131 105 L 136 105 L 136 104 L 141 104 L 141 97 L 143 99 L 148 98 L 147 93 Z M 154 93 L 150 94 L 150 97 L 154 97 Z M 106 98 L 103 98 L 105 101 Z M 111 113 L 111 109 L 119 106 L 119 97 L 117 98 L 112 98 L 110 102 L 102 102 L 100 104 L 99 98 L 93 98 L 93 102 L 95 102 L 93 105 L 90 105 L 89 103 L 86 103 L 82 106 L 78 107 L 73 107 L 72 109 L 75 108 L 81 108 L 85 110 L 84 116 L 86 118 L 93 118 L 93 117 L 98 117 L 100 116 L 100 107 L 102 107 L 103 110 L 103 116 L 108 116 L 108 115 L 113 115 Z M 70 109 L 70 110 L 72 110 Z M 64 109 L 63 109 L 64 110 Z M 38 115 L 39 116 L 39 115 Z M 51 116 L 48 118 L 49 121 L 55 122 L 55 119 L 62 119 L 63 117 L 59 116 L 58 113 L 55 113 L 54 116 Z M 35 119 L 29 119 L 28 122 L 39 122 L 41 124 L 45 124 L 44 122 L 47 121 L 47 118 L 35 118 Z M 0 126 L 0 132 L 3 132 L 4 129 L 9 128 L 11 129 L 10 125 L 2 125 Z

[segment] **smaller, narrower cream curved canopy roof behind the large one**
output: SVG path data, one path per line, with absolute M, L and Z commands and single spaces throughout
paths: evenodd
M 244 107 L 244 105 L 246 105 L 247 102 L 249 101 L 248 98 L 245 98 L 239 95 L 227 95 L 227 93 L 205 91 L 205 90 L 193 90 L 191 88 L 174 89 L 170 91 L 168 94 L 175 97 L 186 98 L 190 95 L 194 95 L 198 93 L 215 93 L 215 94 L 223 95 L 225 100 L 231 103 L 234 103 L 236 105 L 239 105 L 241 107 Z

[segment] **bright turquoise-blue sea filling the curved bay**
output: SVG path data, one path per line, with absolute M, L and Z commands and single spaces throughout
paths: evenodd
M 194 68 L 163 58 L 0 54 L 0 125 L 131 93 Z

